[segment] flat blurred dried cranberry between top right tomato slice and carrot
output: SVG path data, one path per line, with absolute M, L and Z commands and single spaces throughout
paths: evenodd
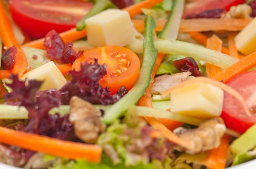
M 189 14 L 186 16 L 186 19 L 194 19 L 194 18 L 220 18 L 222 14 L 224 14 L 226 10 L 224 8 L 218 9 L 210 9 L 204 11 L 200 14 Z

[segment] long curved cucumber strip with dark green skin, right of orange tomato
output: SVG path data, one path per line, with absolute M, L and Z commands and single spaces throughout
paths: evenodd
M 145 89 L 149 86 L 152 78 L 151 74 L 154 64 L 157 59 L 157 49 L 154 48 L 154 28 L 156 23 L 153 17 L 148 16 L 145 19 L 145 32 L 143 43 L 143 62 L 140 69 L 140 75 L 134 87 L 117 101 L 113 106 L 105 111 L 102 121 L 106 124 L 111 124 L 115 119 L 121 117 L 128 108 L 135 104 L 141 96 L 143 96 Z

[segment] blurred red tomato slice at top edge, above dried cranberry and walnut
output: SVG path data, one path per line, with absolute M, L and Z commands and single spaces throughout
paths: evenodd
M 217 8 L 225 8 L 229 11 L 231 6 L 244 3 L 245 0 L 198 0 L 185 6 L 183 17 L 189 14 L 199 14 L 203 11 Z

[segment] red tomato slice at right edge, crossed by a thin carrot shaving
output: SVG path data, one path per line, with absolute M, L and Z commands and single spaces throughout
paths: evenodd
M 227 83 L 248 101 L 256 92 L 256 71 L 242 73 Z M 256 101 L 256 98 L 255 98 Z M 249 117 L 240 102 L 228 93 L 224 93 L 223 112 L 221 117 L 228 128 L 245 132 L 256 123 L 256 113 Z

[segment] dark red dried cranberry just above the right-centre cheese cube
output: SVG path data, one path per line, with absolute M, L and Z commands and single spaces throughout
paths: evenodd
M 191 72 L 192 76 L 202 76 L 195 60 L 191 57 L 173 61 L 173 65 L 182 72 Z

